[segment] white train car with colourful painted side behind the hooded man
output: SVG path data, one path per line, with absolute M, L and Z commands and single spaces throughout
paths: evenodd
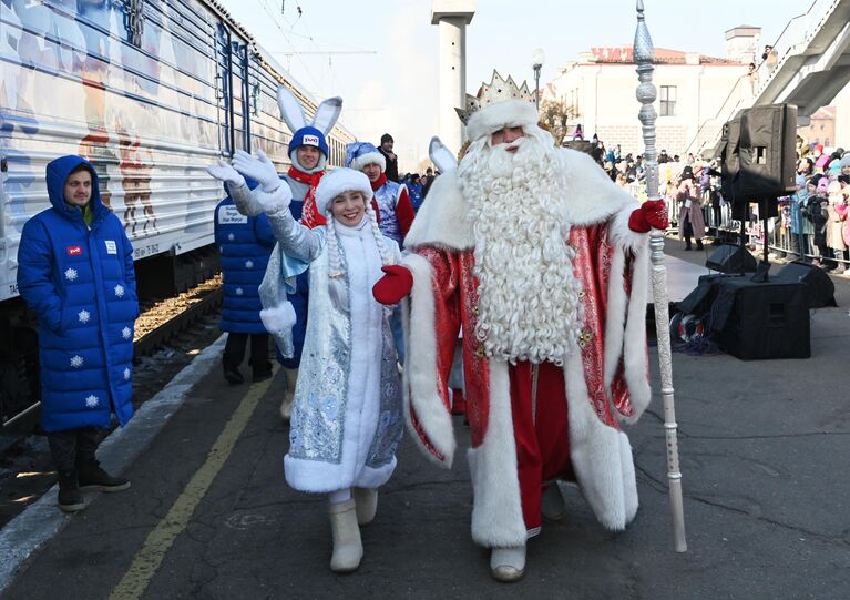
M 214 0 L 0 0 L 0 379 L 28 345 L 16 257 L 49 206 L 47 163 L 93 161 L 137 261 L 188 253 L 213 243 L 222 187 L 207 164 L 263 149 L 286 169 L 281 84 L 310 118 L 315 99 Z M 331 165 L 350 141 L 334 129 Z

